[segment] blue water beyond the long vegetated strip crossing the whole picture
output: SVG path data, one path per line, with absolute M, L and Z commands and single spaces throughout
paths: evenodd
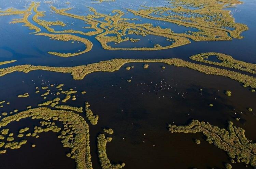
M 3 3 L 5 2 L 5 3 Z M 7 7 L 20 6 L 19 4 L 14 5 L 14 1 L 9 3 L 10 1 L 1 1 L 1 7 L 6 9 Z M 80 1 L 79 1 L 80 2 Z M 91 1 L 83 1 L 84 3 L 91 4 Z M 133 3 L 118 3 L 114 2 L 112 5 L 109 5 L 109 2 L 104 2 L 101 4 L 93 4 L 96 8 L 101 8 L 102 6 L 108 6 L 108 8 L 101 8 L 101 11 L 108 13 L 112 9 L 116 9 L 116 7 L 120 7 L 121 9 L 126 7 L 130 7 L 132 9 L 141 8 L 140 5 L 148 5 L 154 6 L 159 5 L 163 6 L 166 5 L 166 2 L 159 1 L 159 3 L 152 1 L 129 1 Z M 245 0 L 244 4 L 238 5 L 234 8 L 227 8 L 225 10 L 231 10 L 231 14 L 235 18 L 236 22 L 244 23 L 248 25 L 248 31 L 242 33 L 242 36 L 245 38 L 243 39 L 233 39 L 231 41 L 197 41 L 194 42 L 192 40 L 190 44 L 179 46 L 176 48 L 171 48 L 167 50 L 158 50 L 158 51 L 127 51 L 127 50 L 104 50 L 101 47 L 101 44 L 95 39 L 94 36 L 83 36 L 81 37 L 87 38 L 93 43 L 93 49 L 87 53 L 69 57 L 69 58 L 62 58 L 58 56 L 53 56 L 48 54 L 48 51 L 55 51 L 55 52 L 74 52 L 78 50 L 83 50 L 84 45 L 82 43 L 71 43 L 71 42 L 62 42 L 57 40 L 50 40 L 48 37 L 38 36 L 32 33 L 33 30 L 29 30 L 28 27 L 22 26 L 23 23 L 16 23 L 16 24 L 9 24 L 9 22 L 14 18 L 20 18 L 20 16 L 4 16 L 0 17 L 0 61 L 16 59 L 17 61 L 14 63 L 2 65 L 1 67 L 9 67 L 12 65 L 20 65 L 20 64 L 34 64 L 34 65 L 49 65 L 49 66 L 75 66 L 75 65 L 84 65 L 88 63 L 94 63 L 101 60 L 109 60 L 112 58 L 141 58 L 141 59 L 151 59 L 151 58 L 182 58 L 184 60 L 189 60 L 189 56 L 203 53 L 203 52 L 220 52 L 231 55 L 235 59 L 243 60 L 246 62 L 256 63 L 256 19 L 255 19 L 255 8 L 256 3 L 250 0 Z M 4 5 L 2 5 L 4 4 Z M 28 6 L 29 3 L 26 2 Z M 57 5 L 58 4 L 58 5 Z M 83 5 L 83 6 L 86 6 Z M 48 9 L 50 4 L 45 4 L 41 2 L 40 10 Z M 82 7 L 81 4 L 65 4 L 64 2 L 59 2 L 56 4 L 52 4 L 58 8 L 61 7 L 78 7 L 79 12 L 82 12 L 81 15 L 85 15 L 88 12 L 88 8 Z M 91 5 L 90 5 L 91 6 Z M 23 9 L 23 7 L 20 7 Z M 73 10 L 73 11 L 72 11 Z M 98 9 L 97 9 L 98 10 Z M 74 12 L 74 9 L 71 9 L 70 13 Z M 49 12 L 46 12 L 48 14 Z M 131 14 L 129 14 L 131 16 Z M 129 18 L 129 15 L 128 18 Z M 159 21 L 149 21 L 144 18 L 140 18 L 136 16 L 139 20 L 142 20 L 143 23 L 152 23 L 154 26 L 160 25 L 164 28 L 171 28 L 174 32 L 177 33 L 184 33 L 187 30 L 197 32 L 198 30 L 177 26 L 172 23 L 166 22 L 159 22 Z M 43 18 L 44 20 L 50 20 L 51 18 L 47 15 Z M 58 19 L 61 19 L 60 17 Z M 72 23 L 72 18 L 67 17 L 67 22 Z M 31 17 L 29 17 L 29 21 L 35 24 Z M 87 26 L 83 21 L 76 21 L 77 25 L 74 24 L 75 28 Z M 141 21 L 129 21 L 129 22 L 141 22 Z M 75 22 L 74 22 L 75 23 Z M 37 25 L 37 24 L 35 24 Z M 46 32 L 46 30 L 40 26 L 42 32 Z M 60 26 L 59 26 L 60 27 Z M 60 29 L 54 27 L 56 30 Z M 63 27 L 65 29 L 65 27 Z M 83 28 L 81 28 L 83 30 Z M 88 30 L 89 31 L 89 30 Z M 74 34 L 77 35 L 77 34 Z

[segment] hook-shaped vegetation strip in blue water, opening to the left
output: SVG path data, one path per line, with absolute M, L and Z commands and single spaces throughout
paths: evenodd
M 48 37 L 50 37 L 51 39 L 54 39 L 54 40 L 62 40 L 62 41 L 76 40 L 76 41 L 80 41 L 80 42 L 85 44 L 86 49 L 81 51 L 81 52 L 76 52 L 76 53 L 48 52 L 49 54 L 57 55 L 57 56 L 60 56 L 60 57 L 70 57 L 70 56 L 80 55 L 80 54 L 83 54 L 85 52 L 90 51 L 91 48 L 93 48 L 93 43 L 91 43 L 91 41 L 89 41 L 88 39 L 85 39 L 85 38 L 81 38 L 79 36 L 75 36 L 75 35 L 70 35 L 70 34 L 48 34 L 48 33 L 38 33 L 36 35 L 48 36 Z

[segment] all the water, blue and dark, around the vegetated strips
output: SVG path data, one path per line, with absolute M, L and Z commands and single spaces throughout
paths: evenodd
M 77 15 L 92 14 L 85 6 L 92 6 L 98 12 L 109 14 L 112 10 L 126 8 L 138 10 L 141 5 L 165 6 L 168 1 L 115 1 L 103 2 L 100 4 L 92 1 L 54 1 L 47 4 L 41 1 L 39 11 L 46 11 L 42 19 L 54 19 L 57 14 L 49 11 L 51 5 L 57 8 L 73 7 L 67 11 Z M 74 3 L 76 2 L 76 3 Z M 45 36 L 30 34 L 33 30 L 22 26 L 23 23 L 9 24 L 14 18 L 20 16 L 0 17 L 0 61 L 16 59 L 14 63 L 1 65 L 6 68 L 13 65 L 33 64 L 56 67 L 72 67 L 85 65 L 102 60 L 113 58 L 132 59 L 159 59 L 159 58 L 181 58 L 191 62 L 189 56 L 204 52 L 219 52 L 231 55 L 233 58 L 245 62 L 256 63 L 256 3 L 252 0 L 244 0 L 244 4 L 231 10 L 236 22 L 246 24 L 248 31 L 242 33 L 243 39 L 232 39 L 232 41 L 193 41 L 176 48 L 157 51 L 133 51 L 133 50 L 104 50 L 95 36 L 83 36 L 93 43 L 91 51 L 68 58 L 62 58 L 48 54 L 52 52 L 77 52 L 84 50 L 83 43 L 74 43 L 51 40 Z M 1 10 L 13 6 L 24 10 L 30 2 L 26 1 L 0 1 Z M 191 10 L 197 10 L 193 6 L 184 6 Z M 53 13 L 53 15 L 51 15 Z M 33 13 L 34 14 L 34 13 Z M 111 13 L 111 15 L 114 15 Z M 128 20 L 135 23 L 152 23 L 154 26 L 163 28 L 170 27 L 174 32 L 184 33 L 186 31 L 198 32 L 199 30 L 190 27 L 177 26 L 176 24 L 155 21 L 151 19 L 134 16 L 131 13 L 125 14 L 123 18 L 136 17 L 139 20 Z M 65 22 L 67 26 L 51 26 L 56 31 L 65 29 L 91 31 L 84 29 L 88 26 L 84 21 L 73 18 L 58 16 L 58 19 Z M 32 15 L 28 20 L 40 27 L 42 32 L 47 32 L 42 26 L 32 21 Z M 99 19 L 99 20 L 102 20 Z M 73 23 L 73 24 L 71 24 Z M 78 35 L 78 34 L 72 34 Z M 109 36 L 112 36 L 109 34 Z M 155 43 L 162 46 L 170 45 L 166 38 L 147 35 L 138 37 L 128 35 L 134 39 L 141 39 L 139 42 L 122 42 L 120 44 L 108 43 L 113 47 L 152 47 Z M 151 41 L 148 41 L 150 39 Z M 211 56 L 208 60 L 217 61 Z M 125 169 L 137 168 L 224 168 L 225 163 L 230 163 L 228 155 L 212 144 L 205 141 L 201 133 L 185 134 L 171 133 L 168 131 L 168 124 L 186 125 L 191 119 L 208 121 L 211 125 L 220 128 L 227 127 L 227 121 L 232 121 L 235 126 L 245 130 L 245 136 L 256 142 L 255 121 L 253 112 L 247 111 L 251 107 L 256 110 L 255 92 L 250 88 L 243 88 L 237 81 L 222 76 L 206 75 L 188 68 L 174 67 L 162 63 L 148 63 L 148 69 L 143 69 L 144 63 L 128 63 L 119 71 L 115 72 L 94 72 L 82 80 L 74 80 L 69 73 L 56 73 L 48 71 L 31 71 L 29 73 L 14 72 L 0 77 L 0 100 L 10 101 L 9 106 L 0 108 L 0 112 L 10 112 L 14 109 L 26 110 L 27 106 L 38 107 L 42 100 L 40 94 L 35 93 L 35 87 L 49 84 L 63 83 L 63 90 L 70 88 L 77 90 L 77 100 L 68 101 L 70 106 L 81 107 L 84 102 L 90 103 L 90 109 L 94 114 L 99 115 L 97 125 L 89 124 L 90 147 L 94 169 L 100 169 L 97 154 L 97 136 L 103 133 L 103 128 L 112 128 L 112 142 L 108 142 L 106 152 L 112 164 L 125 163 Z M 134 65 L 134 68 L 127 71 L 126 66 Z M 161 66 L 166 69 L 162 70 Z M 243 72 L 244 73 L 244 72 Z M 131 82 L 127 82 L 131 79 Z M 44 84 L 42 84 L 44 83 Z M 199 89 L 202 88 L 203 91 Z M 87 93 L 82 95 L 80 91 Z M 225 95 L 225 90 L 232 91 L 230 97 Z M 51 91 L 56 91 L 55 87 Z M 18 94 L 28 92 L 27 98 L 17 98 Z M 41 91 L 42 92 L 42 91 Z M 48 99 L 56 96 L 49 94 Z M 209 104 L 213 107 L 209 107 Z M 81 114 L 85 117 L 85 114 Z M 236 121 L 235 118 L 240 118 Z M 17 132 L 20 128 L 29 126 L 33 128 L 39 121 L 23 119 L 12 122 L 8 128 Z M 145 134 L 145 135 L 144 135 Z M 66 157 L 69 149 L 63 148 L 59 134 L 53 132 L 40 133 L 39 138 L 28 137 L 28 143 L 17 150 L 8 150 L 6 154 L 0 154 L 0 168 L 52 168 L 72 169 L 75 168 L 73 159 Z M 20 139 L 15 136 L 15 139 Z M 194 140 L 200 139 L 201 144 L 195 144 Z M 36 144 L 35 148 L 31 148 Z M 155 146 L 154 146 L 155 145 Z M 15 162 L 15 163 L 14 163 Z M 234 169 L 252 168 L 244 163 L 232 164 Z

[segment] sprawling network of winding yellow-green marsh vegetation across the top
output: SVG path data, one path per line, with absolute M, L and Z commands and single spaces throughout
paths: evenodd
M 112 0 L 100 0 L 102 1 L 112 1 Z M 183 7 L 184 3 L 188 3 L 193 7 L 198 7 L 198 10 L 190 10 Z M 25 26 L 28 26 L 29 29 L 35 30 L 35 33 L 41 32 L 41 29 L 28 21 L 28 17 L 32 14 L 32 11 L 35 13 L 32 16 L 32 20 L 37 24 L 43 26 L 49 33 L 38 33 L 37 35 L 49 36 L 52 39 L 70 41 L 78 40 L 83 42 L 86 45 L 86 49 L 82 52 L 77 53 L 58 53 L 58 52 L 49 52 L 50 54 L 61 56 L 61 57 L 70 57 L 79 55 L 85 52 L 88 52 L 91 49 L 92 43 L 79 36 L 71 35 L 71 33 L 76 33 L 80 35 L 93 36 L 96 35 L 96 39 L 101 43 L 102 48 L 106 50 L 161 50 L 169 49 L 177 46 L 185 45 L 190 43 L 189 39 L 194 41 L 202 40 L 232 40 L 232 38 L 243 38 L 240 34 L 247 30 L 248 27 L 241 23 L 235 23 L 234 19 L 230 15 L 228 10 L 223 10 L 226 7 L 231 7 L 233 4 L 241 3 L 238 0 L 231 0 L 229 2 L 219 3 L 217 0 L 207 1 L 202 0 L 200 3 L 194 0 L 175 0 L 165 7 L 147 7 L 142 6 L 138 11 L 127 9 L 129 13 L 134 14 L 135 16 L 141 16 L 143 18 L 151 19 L 154 21 L 164 21 L 176 25 L 181 25 L 185 27 L 193 27 L 198 29 L 198 32 L 186 31 L 184 33 L 175 33 L 170 28 L 162 28 L 160 26 L 154 26 L 151 23 L 130 23 L 128 20 L 134 20 L 136 18 L 124 18 L 125 12 L 121 10 L 113 10 L 113 15 L 103 14 L 97 12 L 93 7 L 88 7 L 90 12 L 87 16 L 76 15 L 68 13 L 67 11 L 72 8 L 61 8 L 58 9 L 54 6 L 51 6 L 51 10 L 55 13 L 71 17 L 79 20 L 85 21 L 90 26 L 85 26 L 86 29 L 94 29 L 95 31 L 83 32 L 73 29 L 56 31 L 51 26 L 59 25 L 66 26 L 62 21 L 46 21 L 42 18 L 45 16 L 44 11 L 38 11 L 40 2 L 31 2 L 30 6 L 26 10 L 16 10 L 14 8 L 8 8 L 5 11 L 0 11 L 0 16 L 5 15 L 22 15 L 21 19 L 15 19 L 10 23 L 25 23 Z M 164 13 L 168 15 L 164 15 Z M 185 17 L 179 15 L 180 13 L 189 14 L 193 17 Z M 218 14 L 218 15 L 216 15 Z M 103 18 L 104 21 L 98 20 L 98 18 Z M 233 30 L 229 29 L 232 28 Z M 56 34 L 58 33 L 58 34 Z M 65 33 L 65 34 L 62 34 Z M 116 34 L 116 36 L 107 36 L 108 34 Z M 228 35 L 229 33 L 229 35 Z M 136 43 L 140 39 L 129 38 L 127 35 L 136 34 L 140 36 L 146 35 L 155 35 L 160 37 L 165 37 L 172 41 L 168 46 L 161 46 L 160 44 L 154 44 L 154 47 L 141 47 L 141 48 L 114 48 L 108 45 L 109 42 L 121 43 L 126 41 L 131 41 Z

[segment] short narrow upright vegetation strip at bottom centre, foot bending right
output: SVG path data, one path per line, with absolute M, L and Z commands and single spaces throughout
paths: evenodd
M 108 156 L 106 154 L 106 143 L 111 142 L 112 138 L 107 137 L 105 138 L 104 134 L 99 134 L 97 137 L 97 147 L 98 147 L 98 157 L 101 164 L 102 169 L 120 169 L 125 166 L 124 163 L 120 164 L 111 164 Z

